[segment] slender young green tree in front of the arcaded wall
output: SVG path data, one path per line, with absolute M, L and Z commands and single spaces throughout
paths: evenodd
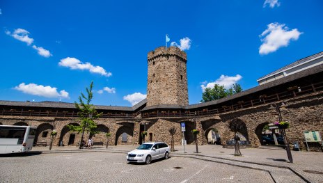
M 90 89 L 86 88 L 86 93 L 88 96 L 86 97 L 83 93 L 81 93 L 81 96 L 79 96 L 79 104 L 74 102 L 75 107 L 78 110 L 77 115 L 79 116 L 80 125 L 68 125 L 68 128 L 71 131 L 82 134 L 79 142 L 79 149 L 82 148 L 84 132 L 89 132 L 90 136 L 97 134 L 95 131 L 97 125 L 94 120 L 102 115 L 102 113 L 97 113 L 93 104 L 90 104 L 91 100 L 93 99 L 92 88 L 93 81 L 90 83 Z

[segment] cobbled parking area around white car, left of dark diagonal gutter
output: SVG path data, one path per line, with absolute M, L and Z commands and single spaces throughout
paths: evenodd
M 182 157 L 153 161 L 150 165 L 127 164 L 124 153 L 111 152 L 1 157 L 0 180 L 0 182 L 274 182 L 269 173 L 262 170 Z

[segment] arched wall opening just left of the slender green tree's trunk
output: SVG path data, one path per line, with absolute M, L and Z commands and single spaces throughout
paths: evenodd
M 77 123 L 70 123 L 69 125 L 79 126 Z M 90 134 L 84 132 L 84 139 L 87 139 Z M 59 136 L 58 145 L 77 145 L 77 143 L 81 140 L 81 133 L 77 134 L 77 132 L 72 132 L 65 125 L 61 131 L 61 136 Z M 85 140 L 86 141 L 86 140 Z M 62 142 L 62 143 L 61 143 Z

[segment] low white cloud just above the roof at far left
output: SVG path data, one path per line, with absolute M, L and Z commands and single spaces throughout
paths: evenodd
M 15 86 L 15 90 L 22 91 L 23 93 L 27 93 L 30 95 L 37 95 L 40 97 L 63 97 L 69 98 L 68 92 L 65 90 L 61 90 L 59 93 L 57 92 L 57 88 L 52 88 L 51 86 L 42 86 L 37 85 L 35 83 L 25 84 L 21 83 L 19 86 Z

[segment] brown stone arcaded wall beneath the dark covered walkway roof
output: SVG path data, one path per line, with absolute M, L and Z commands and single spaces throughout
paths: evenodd
M 323 92 L 313 93 L 310 95 L 303 95 L 301 97 L 294 97 L 286 102 L 289 105 L 284 109 L 281 108 L 281 116 L 283 120 L 290 122 L 290 128 L 286 129 L 287 137 L 292 145 L 293 142 L 298 142 L 301 150 L 306 150 L 304 143 L 304 131 L 319 131 L 323 134 Z M 275 104 L 279 104 L 276 102 Z M 108 118 L 100 118 L 95 120 L 97 122 L 98 131 L 101 134 L 96 134 L 93 141 L 103 142 L 106 144 L 107 138 L 104 133 L 111 132 L 112 136 L 109 138 L 109 145 L 132 144 L 138 145 L 141 141 L 141 131 L 143 130 L 143 123 L 148 136 L 145 141 L 165 141 L 171 144 L 171 135 L 168 129 L 175 127 L 177 132 L 175 134 L 175 145 L 180 145 L 182 142 L 182 132 L 180 122 L 186 123 L 186 132 L 184 132 L 187 143 L 194 144 L 194 136 L 191 133 L 192 129 L 200 129 L 198 134 L 198 144 L 207 144 L 207 133 L 211 129 L 216 131 L 221 136 L 221 143 L 226 144 L 233 138 L 233 132 L 230 131 L 228 124 L 232 120 L 239 120 L 245 124 L 242 134 L 253 147 L 258 147 L 261 144 L 262 128 L 271 122 L 278 121 L 278 114 L 276 108 L 270 103 L 254 106 L 247 109 L 237 109 L 221 115 L 203 116 L 198 118 L 155 118 L 155 119 L 141 119 L 139 122 L 135 120 L 116 120 Z M 138 119 L 137 119 L 138 121 Z M 50 132 L 56 129 L 58 132 L 54 139 L 54 145 L 58 145 L 60 141 L 64 145 L 68 145 L 71 134 L 75 135 L 74 143 L 79 142 L 80 134 L 70 132 L 66 125 L 79 124 L 77 118 L 53 118 L 53 117 L 35 117 L 35 116 L 0 116 L 0 123 L 3 125 L 31 125 L 38 127 L 38 137 L 36 141 L 46 141 L 49 144 Z M 48 132 L 47 136 L 42 138 L 42 133 Z M 127 134 L 127 142 L 122 142 L 122 134 Z M 87 140 L 89 134 L 85 134 L 84 138 Z M 151 136 L 151 139 L 150 139 Z M 310 150 L 322 151 L 319 143 L 309 143 Z

